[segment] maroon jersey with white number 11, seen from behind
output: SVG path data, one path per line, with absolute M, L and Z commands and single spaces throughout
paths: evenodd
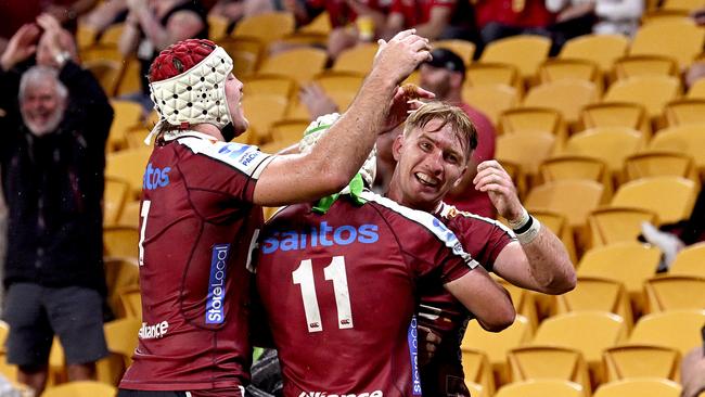
M 257 290 L 284 396 L 421 395 L 416 286 L 477 266 L 432 215 L 362 194 L 364 205 L 342 195 L 325 215 L 289 206 L 260 240 Z

